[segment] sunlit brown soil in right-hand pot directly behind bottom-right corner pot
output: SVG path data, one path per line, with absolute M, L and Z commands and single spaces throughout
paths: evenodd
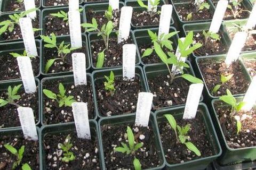
M 233 77 L 229 81 L 222 84 L 217 93 L 212 94 L 213 96 L 226 95 L 227 89 L 229 89 L 233 95 L 244 94 L 249 87 L 250 82 L 246 79 L 246 73 L 244 73 L 243 66 L 240 64 L 239 60 L 231 63 L 229 67 L 226 65 L 225 61 L 217 62 L 211 58 L 199 60 L 198 64 L 210 92 L 217 84 L 221 84 L 221 74 L 225 76 L 233 74 Z

